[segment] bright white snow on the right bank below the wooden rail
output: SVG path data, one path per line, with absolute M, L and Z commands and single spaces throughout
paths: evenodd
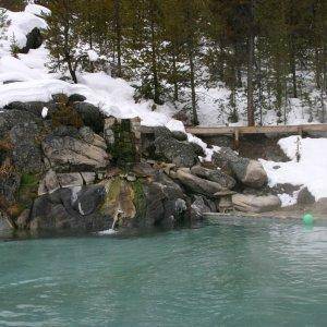
M 316 201 L 327 197 L 327 138 L 289 136 L 281 138 L 278 144 L 291 160 L 275 162 L 261 159 L 268 174 L 269 185 L 289 183 L 307 186 Z M 280 196 L 283 205 L 292 204 L 298 193 L 294 192 L 293 199 L 286 195 Z

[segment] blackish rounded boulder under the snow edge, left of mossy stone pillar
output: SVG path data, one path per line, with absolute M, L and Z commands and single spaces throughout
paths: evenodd
M 80 113 L 84 125 L 95 133 L 104 132 L 105 117 L 99 108 L 88 102 L 75 102 L 73 107 Z

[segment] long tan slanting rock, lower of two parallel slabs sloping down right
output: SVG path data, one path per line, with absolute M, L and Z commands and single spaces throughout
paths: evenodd
M 213 197 L 215 193 L 225 191 L 220 184 L 201 179 L 194 174 L 179 169 L 175 172 L 175 178 L 192 193 L 203 194 Z

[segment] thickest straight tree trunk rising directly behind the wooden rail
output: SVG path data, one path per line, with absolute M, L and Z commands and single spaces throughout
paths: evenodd
M 253 102 L 253 59 L 254 59 L 254 31 L 253 31 L 253 11 L 254 0 L 251 0 L 251 23 L 249 26 L 249 45 L 247 45 L 247 125 L 254 126 L 254 102 Z

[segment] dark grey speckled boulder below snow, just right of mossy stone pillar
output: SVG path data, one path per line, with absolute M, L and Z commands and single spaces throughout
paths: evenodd
M 164 161 L 172 162 L 178 167 L 192 167 L 198 162 L 194 146 L 175 140 L 168 129 L 158 128 L 155 137 L 155 154 Z

